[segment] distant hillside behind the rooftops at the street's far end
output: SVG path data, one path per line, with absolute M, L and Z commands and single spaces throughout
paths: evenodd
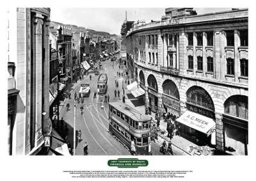
M 72 29 L 72 33 L 73 34 L 79 34 L 81 31 L 85 33 L 85 31 L 87 30 L 88 31 L 88 34 L 93 38 L 93 37 L 104 37 L 104 38 L 111 38 L 111 39 L 116 39 L 118 40 L 119 36 L 118 35 L 111 35 L 109 34 L 108 32 L 104 32 L 104 31 L 95 31 L 93 29 L 86 29 L 82 26 L 76 26 L 76 25 L 73 25 L 73 24 L 62 24 L 60 22 L 54 22 L 54 21 L 51 21 L 51 27 L 54 27 L 54 29 L 57 29 L 58 26 L 66 26 L 67 28 L 71 28 Z

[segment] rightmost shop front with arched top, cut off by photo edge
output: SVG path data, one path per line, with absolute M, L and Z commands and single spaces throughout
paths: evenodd
M 248 97 L 234 95 L 224 104 L 224 147 L 231 155 L 248 155 Z

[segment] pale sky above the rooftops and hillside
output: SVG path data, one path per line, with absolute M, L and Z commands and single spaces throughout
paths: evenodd
M 125 20 L 161 20 L 165 8 L 51 8 L 51 20 L 96 31 L 120 35 Z M 198 14 L 222 12 L 231 8 L 194 8 Z

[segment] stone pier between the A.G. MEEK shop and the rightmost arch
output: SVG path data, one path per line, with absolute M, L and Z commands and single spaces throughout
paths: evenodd
M 216 113 L 215 114 L 216 117 L 216 148 L 218 150 L 222 150 L 224 151 L 224 127 L 223 127 L 223 122 L 222 122 L 222 114 L 220 113 Z

